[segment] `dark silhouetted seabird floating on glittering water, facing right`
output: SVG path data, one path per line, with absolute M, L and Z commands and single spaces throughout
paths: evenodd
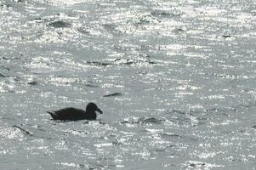
M 96 112 L 102 114 L 102 111 L 94 103 L 88 103 L 86 110 L 68 107 L 58 111 L 47 111 L 54 120 L 62 121 L 79 121 L 79 120 L 95 120 L 97 118 Z

